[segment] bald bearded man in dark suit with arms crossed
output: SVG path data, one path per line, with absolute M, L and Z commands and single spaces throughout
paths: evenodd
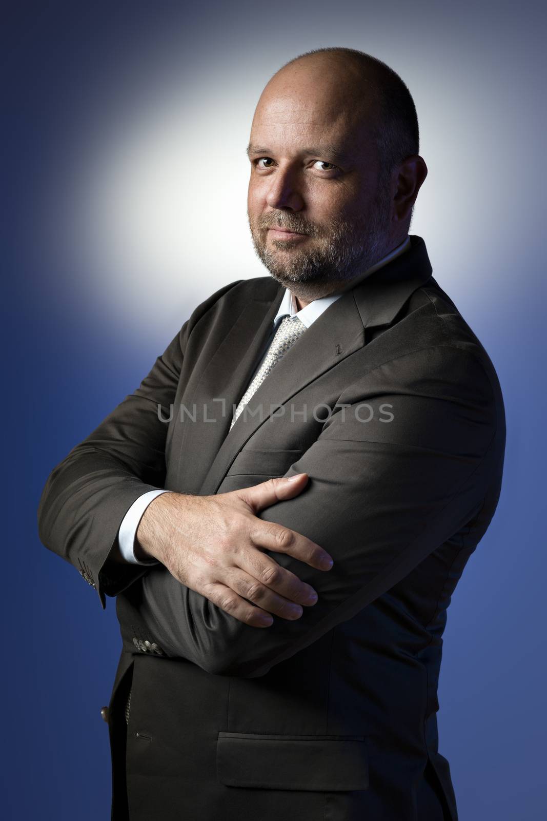
M 248 155 L 270 276 L 199 305 L 40 502 L 43 544 L 117 597 L 112 818 L 457 821 L 442 633 L 504 406 L 408 236 L 413 99 L 374 57 L 308 52 Z

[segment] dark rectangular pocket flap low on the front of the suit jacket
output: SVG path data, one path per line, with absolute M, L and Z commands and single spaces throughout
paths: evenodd
M 365 738 L 219 732 L 217 776 L 228 787 L 366 790 Z

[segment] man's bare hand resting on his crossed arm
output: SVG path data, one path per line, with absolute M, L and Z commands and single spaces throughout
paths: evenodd
M 144 511 L 135 555 L 153 556 L 176 580 L 250 626 L 270 626 L 270 613 L 297 619 L 300 604 L 316 603 L 315 590 L 262 551 L 287 553 L 317 570 L 330 569 L 330 556 L 305 536 L 256 514 L 293 498 L 307 483 L 302 473 L 214 496 L 162 493 Z

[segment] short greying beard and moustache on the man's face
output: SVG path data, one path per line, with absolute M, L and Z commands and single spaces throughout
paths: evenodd
M 371 268 L 388 250 L 391 197 L 388 181 L 378 187 L 368 213 L 347 220 L 333 218 L 320 229 L 299 213 L 262 214 L 252 220 L 247 212 L 254 250 L 271 276 L 296 296 L 317 298 Z M 270 240 L 268 228 L 308 234 L 309 240 Z

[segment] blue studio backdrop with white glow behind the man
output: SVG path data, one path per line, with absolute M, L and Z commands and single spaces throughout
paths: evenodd
M 503 493 L 449 608 L 440 752 L 461 821 L 546 817 L 543 7 L 22 2 L 2 30 L 2 816 L 110 818 L 115 602 L 39 543 L 39 495 L 195 305 L 267 273 L 245 213 L 254 106 L 290 57 L 345 45 L 413 94 L 429 176 L 410 232 L 506 401 Z

